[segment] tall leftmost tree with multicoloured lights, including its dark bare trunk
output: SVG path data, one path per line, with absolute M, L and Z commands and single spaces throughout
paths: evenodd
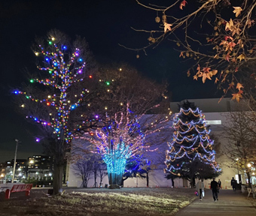
M 72 133 L 79 128 L 71 113 L 90 95 L 87 89 L 90 84 L 84 83 L 92 77 L 94 66 L 86 41 L 77 37 L 70 43 L 61 31 L 52 30 L 46 40 L 37 39 L 32 49 L 40 62 L 38 78 L 31 77 L 32 86 L 27 86 L 24 92 L 15 90 L 14 94 L 21 96 L 23 113 L 41 128 L 45 151 L 54 157 L 53 193 L 56 194 L 62 190 L 63 165 Z

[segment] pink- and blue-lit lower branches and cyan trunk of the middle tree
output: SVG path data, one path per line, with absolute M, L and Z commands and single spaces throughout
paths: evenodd
M 79 137 L 92 143 L 102 155 L 102 160 L 107 165 L 111 188 L 122 184 L 128 160 L 150 150 L 147 136 L 152 136 L 153 133 L 157 136 L 157 133 L 160 133 L 167 121 L 165 117 L 155 117 L 155 121 L 152 122 L 152 116 L 136 116 L 127 104 L 125 113 L 116 113 L 114 118 L 109 118 L 109 124 L 106 126 L 90 129 L 89 133 Z

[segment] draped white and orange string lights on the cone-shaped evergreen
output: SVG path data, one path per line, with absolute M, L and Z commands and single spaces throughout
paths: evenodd
M 187 121 L 187 119 L 191 120 Z M 215 172 L 221 170 L 215 162 L 215 151 L 212 150 L 214 141 L 209 139 L 210 130 L 206 128 L 205 120 L 205 115 L 199 108 L 196 110 L 181 108 L 180 112 L 175 114 L 173 118 L 175 132 L 172 135 L 172 142 L 168 142 L 165 172 L 181 175 L 180 172 L 188 170 L 189 164 L 194 160 L 209 164 Z

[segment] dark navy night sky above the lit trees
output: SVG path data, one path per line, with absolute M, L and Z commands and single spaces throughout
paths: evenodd
M 14 158 L 14 139 L 22 142 L 18 147 L 18 158 L 42 151 L 41 145 L 35 142 L 35 131 L 23 116 L 16 113 L 11 102 L 11 89 L 28 81 L 22 73 L 25 68 L 36 71 L 35 55 L 30 46 L 35 36 L 43 37 L 52 28 L 64 31 L 70 37 L 76 34 L 85 37 L 99 62 L 126 62 L 146 77 L 168 80 L 172 101 L 218 97 L 213 83 L 206 81 L 203 85 L 192 77 L 187 78 L 190 65 L 181 62 L 174 44 L 169 41 L 148 49 L 148 55 L 140 52 L 140 58 L 136 58 L 136 52 L 118 45 L 136 48 L 148 43 L 147 34 L 139 34 L 130 27 L 151 29 L 156 13 L 137 5 L 135 0 L 6 0 L 0 2 L 0 11 L 0 162 Z

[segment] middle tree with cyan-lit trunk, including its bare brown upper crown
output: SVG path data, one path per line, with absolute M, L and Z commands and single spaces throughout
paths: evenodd
M 91 113 L 98 121 L 90 130 L 83 130 L 83 136 L 78 138 L 92 143 L 94 152 L 102 155 L 108 169 L 109 184 L 113 188 L 122 184 L 127 161 L 150 150 L 151 143 L 163 140 L 157 134 L 162 132 L 168 121 L 168 110 L 165 112 L 167 116 L 146 115 L 159 110 L 160 101 L 167 98 L 163 95 L 164 86 L 146 80 L 127 66 L 118 71 L 105 68 L 105 71 L 100 82 L 107 88 L 103 88 L 105 93 L 98 96 L 105 105 L 101 105 L 99 110 L 92 107 Z M 87 121 L 84 122 L 86 125 Z

